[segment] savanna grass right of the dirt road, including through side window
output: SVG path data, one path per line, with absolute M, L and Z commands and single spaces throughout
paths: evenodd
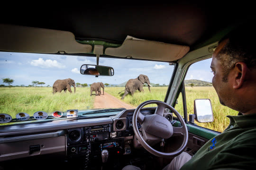
M 106 87 L 105 91 L 112 94 L 113 96 L 121 99 L 124 92 L 118 94 L 120 91 L 124 90 L 124 87 Z M 136 92 L 132 97 L 130 94 L 126 95 L 123 102 L 131 104 L 137 107 L 141 102 L 147 100 L 159 100 L 164 101 L 167 91 L 167 87 L 151 87 L 151 93 L 148 89 L 144 87 L 144 93 Z M 212 86 L 209 87 L 186 87 L 186 102 L 187 102 L 187 112 L 189 114 L 194 113 L 194 100 L 195 99 L 210 99 L 212 105 L 212 111 L 214 116 L 214 121 L 209 123 L 195 123 L 201 127 L 206 127 L 215 131 L 223 132 L 223 130 L 229 125 L 229 118 L 227 115 L 237 115 L 238 111 L 231 110 L 226 106 L 219 103 L 219 98 Z M 155 105 L 152 105 L 155 106 Z M 150 107 L 150 105 L 148 105 Z M 179 95 L 178 104 L 176 104 L 175 109 L 183 116 L 183 101 L 182 96 Z

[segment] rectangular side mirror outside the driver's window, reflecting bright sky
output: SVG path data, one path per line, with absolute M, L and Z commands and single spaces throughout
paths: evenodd
M 213 113 L 210 99 L 195 99 L 194 114 L 196 115 L 196 120 L 200 123 L 212 122 Z

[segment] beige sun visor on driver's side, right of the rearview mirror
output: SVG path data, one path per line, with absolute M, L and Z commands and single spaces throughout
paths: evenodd
M 141 40 L 127 36 L 118 48 L 106 48 L 105 54 L 133 59 L 174 61 L 181 59 L 189 51 L 188 46 Z

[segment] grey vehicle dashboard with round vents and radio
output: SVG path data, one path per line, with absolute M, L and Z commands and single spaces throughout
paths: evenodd
M 101 159 L 103 150 L 109 157 L 129 155 L 141 147 L 134 140 L 133 110 L 120 111 L 115 116 L 91 119 L 59 120 L 0 127 L 0 162 L 51 153 L 61 153 L 67 159 L 83 157 Z M 144 115 L 155 108 L 143 108 Z M 165 113 L 172 121 L 172 113 Z M 138 127 L 140 125 L 138 124 Z

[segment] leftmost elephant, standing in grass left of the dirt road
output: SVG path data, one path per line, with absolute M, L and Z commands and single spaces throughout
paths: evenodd
M 72 93 L 71 85 L 74 87 L 74 93 L 75 93 L 75 82 L 73 79 L 67 78 L 64 80 L 56 80 L 54 82 L 52 91 L 53 93 L 56 93 L 64 90 L 64 92 L 66 93 L 66 91 L 68 90 L 70 93 Z

